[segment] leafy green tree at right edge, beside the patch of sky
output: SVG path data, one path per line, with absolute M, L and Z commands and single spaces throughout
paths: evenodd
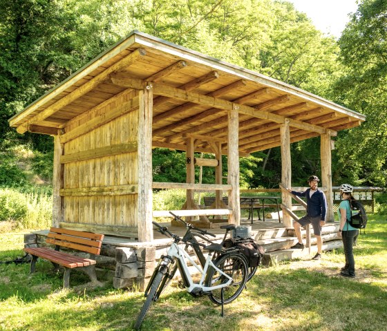
M 346 73 L 334 86 L 341 104 L 364 113 L 361 126 L 337 141 L 343 177 L 363 185 L 387 182 L 387 3 L 359 3 L 339 39 Z

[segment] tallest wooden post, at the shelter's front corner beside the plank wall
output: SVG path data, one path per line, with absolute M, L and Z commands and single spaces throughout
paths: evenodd
M 151 84 L 139 93 L 138 108 L 138 241 L 153 240 L 152 226 L 152 116 Z

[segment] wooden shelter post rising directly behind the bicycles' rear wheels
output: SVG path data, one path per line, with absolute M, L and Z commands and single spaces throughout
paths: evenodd
M 227 183 L 232 186 L 229 191 L 229 207 L 233 214 L 229 216 L 229 223 L 240 225 L 240 201 L 239 201 L 239 127 L 238 106 L 233 106 L 228 112 L 228 176 Z

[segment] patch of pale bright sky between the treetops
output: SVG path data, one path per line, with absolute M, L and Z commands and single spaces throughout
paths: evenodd
M 305 12 L 314 26 L 339 38 L 346 27 L 350 12 L 357 10 L 357 0 L 287 0 L 299 12 Z

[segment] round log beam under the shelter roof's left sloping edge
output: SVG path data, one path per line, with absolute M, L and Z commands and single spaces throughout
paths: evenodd
M 30 118 L 23 124 L 17 127 L 17 132 L 19 133 L 25 133 L 28 130 L 28 126 L 32 124 L 36 124 L 37 122 L 41 120 L 45 120 L 50 115 L 53 115 L 63 107 L 67 106 L 71 102 L 77 100 L 79 97 L 82 97 L 82 95 L 85 95 L 89 91 L 93 90 L 95 86 L 98 84 L 101 84 L 106 79 L 109 78 L 109 75 L 112 73 L 115 73 L 118 70 L 122 70 L 123 68 L 126 68 L 128 66 L 131 66 L 134 64 L 140 57 L 143 57 L 146 55 L 147 52 L 143 48 L 138 48 L 136 50 L 133 50 L 132 53 L 124 57 L 123 59 L 120 59 L 120 61 L 116 62 L 112 66 L 109 66 L 106 68 L 102 73 L 98 74 L 97 76 L 90 79 L 88 82 L 83 84 L 82 86 L 79 86 L 75 91 L 69 93 L 68 95 L 62 97 L 62 99 L 55 102 L 55 104 L 52 104 L 51 106 L 48 106 L 44 111 L 41 113 L 38 113 L 34 117 Z

